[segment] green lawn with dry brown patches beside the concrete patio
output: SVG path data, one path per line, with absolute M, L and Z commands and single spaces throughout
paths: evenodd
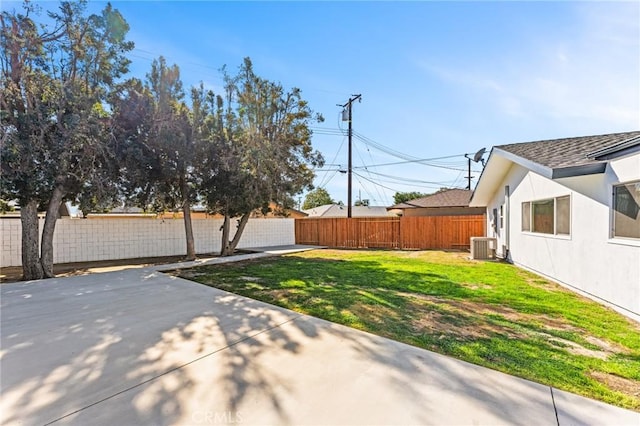
M 509 264 L 315 250 L 179 274 L 640 411 L 640 326 Z

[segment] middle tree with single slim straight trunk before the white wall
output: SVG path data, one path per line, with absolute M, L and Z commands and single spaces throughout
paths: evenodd
M 160 57 L 146 82 L 131 79 L 111 99 L 113 134 L 121 159 L 121 191 L 145 210 L 183 212 L 186 258 L 195 259 L 191 204 L 195 139 L 177 65 Z

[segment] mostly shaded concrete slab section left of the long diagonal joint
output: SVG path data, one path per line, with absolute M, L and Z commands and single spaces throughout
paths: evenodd
M 297 315 L 141 269 L 0 289 L 0 424 L 52 421 Z

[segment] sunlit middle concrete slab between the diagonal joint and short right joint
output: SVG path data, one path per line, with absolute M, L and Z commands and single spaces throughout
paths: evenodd
M 182 386 L 182 384 L 188 386 Z M 506 385 L 506 386 L 505 386 Z M 548 387 L 309 317 L 62 424 L 555 424 Z

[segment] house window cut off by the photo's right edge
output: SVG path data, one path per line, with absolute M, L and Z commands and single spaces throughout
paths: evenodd
M 640 238 L 640 181 L 613 186 L 613 236 Z

